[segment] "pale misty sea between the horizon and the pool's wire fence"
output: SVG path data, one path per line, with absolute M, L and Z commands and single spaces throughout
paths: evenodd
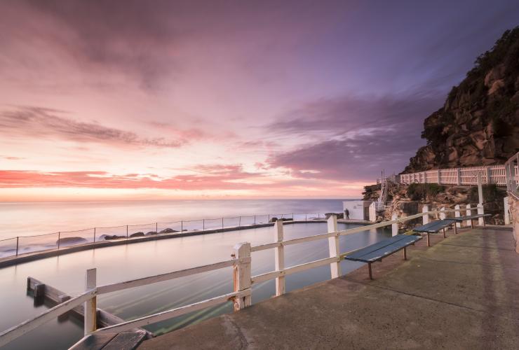
M 254 215 L 262 217 L 267 214 L 280 216 L 292 213 L 315 215 L 327 212 L 342 212 L 342 200 L 0 203 L 0 239 L 121 225 L 136 225 L 137 228 L 138 226 L 149 226 L 142 229 L 151 230 L 156 222 L 196 221 L 202 218 Z M 251 219 L 248 218 L 248 220 Z M 267 220 L 267 217 L 263 219 Z

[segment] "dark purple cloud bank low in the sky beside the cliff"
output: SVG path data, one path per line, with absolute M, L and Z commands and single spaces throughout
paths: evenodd
M 274 153 L 271 167 L 290 169 L 292 176 L 362 180 L 382 169 L 400 172 L 424 144 L 423 120 L 443 103 L 438 92 L 398 97 L 328 99 L 285 115 L 269 129 L 322 141 L 292 151 Z

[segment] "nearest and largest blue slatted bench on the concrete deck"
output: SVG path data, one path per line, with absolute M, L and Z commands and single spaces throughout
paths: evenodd
M 371 264 L 375 261 L 382 261 L 382 258 L 386 258 L 386 256 L 396 253 L 403 249 L 404 260 L 407 260 L 407 252 L 405 248 L 411 244 L 414 244 L 416 241 L 422 239 L 420 236 L 414 235 L 396 235 L 389 239 L 384 239 L 384 241 L 379 241 L 370 246 L 366 246 L 364 248 L 360 248 L 356 251 L 353 251 L 344 256 L 345 260 L 353 260 L 353 261 L 362 261 L 368 262 L 368 272 L 370 274 L 370 279 L 373 279 L 373 275 L 371 272 Z

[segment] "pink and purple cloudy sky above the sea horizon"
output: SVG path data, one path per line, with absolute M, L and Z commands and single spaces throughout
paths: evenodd
M 0 201 L 355 198 L 518 1 L 0 1 Z

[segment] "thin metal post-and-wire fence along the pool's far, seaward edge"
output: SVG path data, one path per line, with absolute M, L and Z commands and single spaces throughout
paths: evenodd
M 133 239 L 153 235 L 172 235 L 186 232 L 206 232 L 231 228 L 252 228 L 255 225 L 272 223 L 281 218 L 284 221 L 316 221 L 325 218 L 322 213 L 262 214 L 233 216 L 224 218 L 201 218 L 198 220 L 170 221 L 167 223 L 147 223 L 142 225 L 121 225 L 107 228 L 87 228 L 84 230 L 60 231 L 43 235 L 18 236 L 0 239 L 0 258 L 18 256 L 36 251 L 62 249 L 80 244 L 93 244 L 114 239 Z

